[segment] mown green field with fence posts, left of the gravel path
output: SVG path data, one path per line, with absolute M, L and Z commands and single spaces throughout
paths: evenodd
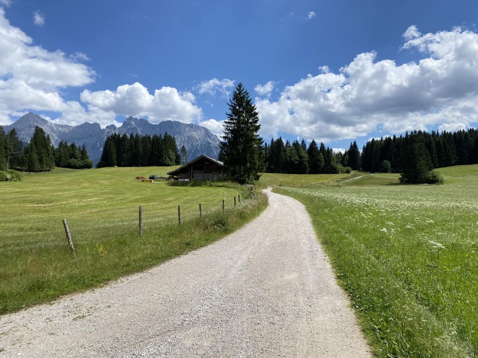
M 92 287 L 203 246 L 267 205 L 259 195 L 233 210 L 234 196 L 247 196 L 240 186 L 171 187 L 165 181 L 135 181 L 137 175 L 165 175 L 172 169 L 55 169 L 26 173 L 22 182 L 0 183 L 0 313 Z M 62 219 L 67 219 L 76 255 L 69 252 Z

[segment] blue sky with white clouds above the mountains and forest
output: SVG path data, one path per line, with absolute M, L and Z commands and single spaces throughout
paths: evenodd
M 0 124 L 132 115 L 221 134 L 243 82 L 267 140 L 476 127 L 476 23 L 461 0 L 0 0 Z

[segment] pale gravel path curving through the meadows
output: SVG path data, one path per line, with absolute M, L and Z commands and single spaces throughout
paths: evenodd
M 0 317 L 0 358 L 366 357 L 304 207 L 105 287 Z

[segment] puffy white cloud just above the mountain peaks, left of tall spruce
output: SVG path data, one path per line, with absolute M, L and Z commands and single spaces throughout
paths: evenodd
M 88 105 L 90 112 L 147 117 L 153 123 L 163 120 L 191 123 L 202 118 L 201 108 L 194 104 L 194 95 L 172 87 L 162 87 L 150 94 L 145 86 L 135 82 L 118 86 L 114 91 L 84 90 L 80 98 Z

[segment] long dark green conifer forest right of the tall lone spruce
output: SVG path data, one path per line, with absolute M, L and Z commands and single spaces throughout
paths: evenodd
M 431 133 L 413 131 L 404 136 L 372 139 L 358 150 L 350 143 L 343 153 L 333 153 L 324 143 L 305 140 L 292 144 L 272 139 L 263 147 L 264 171 L 294 174 L 330 174 L 364 170 L 402 173 L 402 183 L 442 183 L 434 168 L 478 163 L 478 131 Z

